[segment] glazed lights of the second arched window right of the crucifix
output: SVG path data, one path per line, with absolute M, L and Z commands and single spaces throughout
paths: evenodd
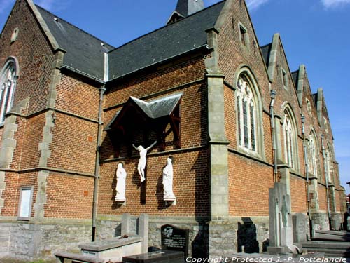
M 287 108 L 284 110 L 283 121 L 283 137 L 284 137 L 284 159 L 288 166 L 291 168 L 297 168 L 297 154 L 296 154 L 296 129 L 293 123 L 290 110 Z

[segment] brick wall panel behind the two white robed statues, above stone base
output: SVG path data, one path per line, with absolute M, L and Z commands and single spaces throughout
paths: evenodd
M 148 156 L 146 192 L 139 183 L 139 173 L 137 172 L 139 159 L 125 160 L 125 170 L 127 171 L 126 205 L 120 206 L 120 208 L 114 202 L 117 163 L 103 163 L 102 180 L 99 181 L 99 214 L 208 215 L 210 196 L 207 151 L 188 151 L 174 154 L 173 190 L 176 196 L 176 205 L 169 208 L 165 206 L 163 201 L 162 186 L 162 168 L 166 164 L 167 156 L 169 155 Z M 146 204 L 142 204 L 140 201 L 143 194 L 146 196 Z

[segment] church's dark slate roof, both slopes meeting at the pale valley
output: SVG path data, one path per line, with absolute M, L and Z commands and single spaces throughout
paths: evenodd
M 197 3 L 197 2 L 196 2 Z M 109 81 L 207 45 L 206 30 L 214 27 L 225 0 L 161 27 L 119 48 L 36 6 L 56 39 L 66 50 L 63 65 L 104 80 L 104 53 L 109 54 Z M 104 43 L 104 46 L 102 46 Z

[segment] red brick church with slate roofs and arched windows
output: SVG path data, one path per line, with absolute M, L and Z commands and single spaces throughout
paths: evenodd
M 167 25 L 113 47 L 17 0 L 0 35 L 0 86 L 1 257 L 113 238 L 124 213 L 149 215 L 151 246 L 173 224 L 189 229 L 189 255 L 262 252 L 275 182 L 309 236 L 340 227 L 323 91 L 304 65 L 289 68 L 279 34 L 259 46 L 244 1 L 179 0 Z M 154 142 L 141 182 L 132 145 Z

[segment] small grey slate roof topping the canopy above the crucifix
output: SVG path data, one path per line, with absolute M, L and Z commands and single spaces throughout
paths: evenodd
M 139 100 L 136 97 L 130 97 L 125 105 L 132 103 L 139 107 L 139 109 L 141 109 L 141 112 L 144 112 L 144 114 L 146 114 L 148 118 L 158 119 L 172 114 L 177 104 L 179 104 L 182 95 L 182 93 L 178 93 L 166 97 L 160 97 L 159 99 L 151 100 L 150 102 Z M 123 107 L 123 109 L 125 109 L 125 106 Z M 104 130 L 111 130 L 113 123 L 115 123 L 115 121 L 118 121 L 118 116 L 120 112 L 123 111 L 123 109 L 121 109 L 119 112 L 116 113 L 115 116 L 113 116 L 113 119 Z

